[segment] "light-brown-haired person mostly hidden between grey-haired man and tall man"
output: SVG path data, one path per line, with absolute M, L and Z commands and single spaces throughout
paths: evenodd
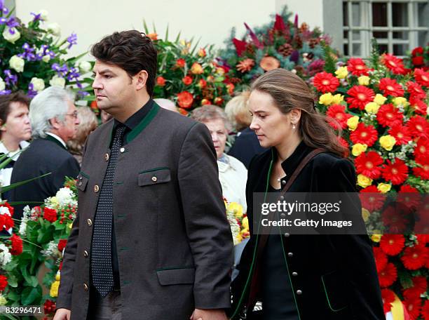
M 97 128 L 97 116 L 90 107 L 78 108 L 79 126 L 76 137 L 67 142 L 69 152 L 73 154 L 79 164 L 82 163 L 83 146 L 88 135 Z

